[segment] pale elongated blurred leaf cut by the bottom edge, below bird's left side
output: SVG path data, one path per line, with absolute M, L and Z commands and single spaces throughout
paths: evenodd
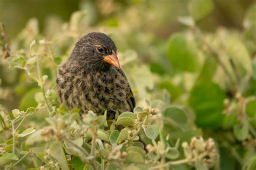
M 69 169 L 68 161 L 60 143 L 53 143 L 50 146 L 50 155 L 58 161 L 62 169 Z

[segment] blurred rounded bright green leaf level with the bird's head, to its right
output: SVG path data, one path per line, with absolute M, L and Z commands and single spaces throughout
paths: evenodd
M 198 69 L 196 46 L 183 33 L 173 34 L 168 46 L 168 57 L 173 67 L 184 72 Z

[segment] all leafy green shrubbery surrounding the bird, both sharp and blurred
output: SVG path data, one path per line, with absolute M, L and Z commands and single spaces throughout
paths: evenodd
M 94 26 L 93 4 L 74 12 L 69 23 L 49 18 L 43 33 L 33 18 L 11 43 L 0 25 L 0 98 L 22 96 L 18 109 L 0 105 L 1 167 L 255 169 L 256 4 L 241 31 L 206 33 L 198 22 L 214 4 L 190 1 L 188 16 L 178 18 L 185 31 L 162 40 L 139 30 L 151 12 L 138 15 L 141 3 L 134 1 L 124 16 Z M 104 11 L 104 4 L 98 8 Z M 136 96 L 133 112 L 114 119 L 106 119 L 106 112 L 80 116 L 58 101 L 57 67 L 91 31 L 103 31 L 116 42 Z

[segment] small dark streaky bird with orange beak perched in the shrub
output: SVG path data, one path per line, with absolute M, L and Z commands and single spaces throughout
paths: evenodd
M 86 114 L 122 113 L 135 107 L 130 85 L 120 68 L 117 48 L 104 33 L 82 37 L 58 69 L 58 95 L 69 109 Z

